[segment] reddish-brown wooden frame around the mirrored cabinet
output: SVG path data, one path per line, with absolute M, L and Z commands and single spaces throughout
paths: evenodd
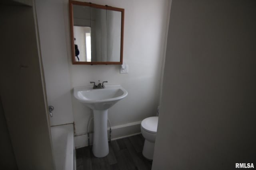
M 74 5 L 81 5 L 81 6 L 90 6 L 93 8 L 100 8 L 105 10 L 113 10 L 113 11 L 119 11 L 121 12 L 121 47 L 120 47 L 120 61 L 76 61 L 75 59 L 75 44 L 74 44 L 74 20 L 73 20 L 73 4 Z M 124 41 L 124 9 L 123 8 L 116 8 L 112 6 L 103 6 L 99 4 L 92 4 L 88 2 L 80 2 L 80 1 L 74 1 L 69 0 L 69 18 L 70 18 L 70 40 L 71 40 L 71 51 L 72 51 L 72 63 L 73 64 L 88 64 L 88 65 L 94 65 L 94 64 L 123 64 L 123 41 Z

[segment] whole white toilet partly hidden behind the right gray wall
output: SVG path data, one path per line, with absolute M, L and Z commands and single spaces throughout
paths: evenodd
M 154 155 L 154 145 L 156 140 L 158 116 L 148 117 L 141 122 L 141 133 L 145 138 L 142 154 L 152 160 Z

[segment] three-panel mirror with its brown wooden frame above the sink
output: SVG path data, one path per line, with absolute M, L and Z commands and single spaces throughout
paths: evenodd
M 73 64 L 122 64 L 124 9 L 69 0 Z

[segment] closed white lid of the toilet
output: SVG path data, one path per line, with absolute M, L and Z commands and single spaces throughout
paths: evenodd
M 158 116 L 148 117 L 141 122 L 141 127 L 149 133 L 156 133 Z

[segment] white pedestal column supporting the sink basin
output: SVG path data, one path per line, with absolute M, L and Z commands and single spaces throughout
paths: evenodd
M 101 158 L 108 155 L 108 109 L 93 110 L 94 133 L 92 152 Z

